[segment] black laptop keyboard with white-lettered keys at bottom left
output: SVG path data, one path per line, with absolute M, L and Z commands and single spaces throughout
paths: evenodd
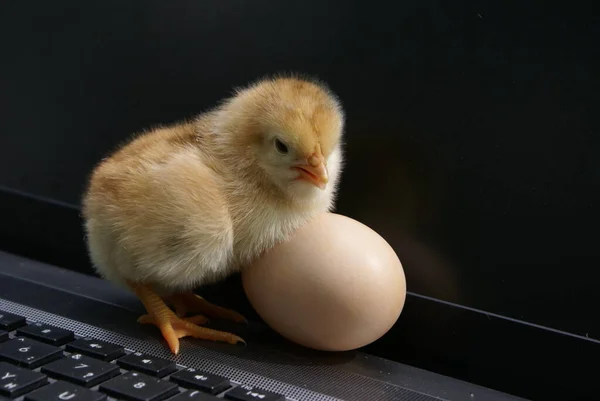
M 286 398 L 0 311 L 0 401 L 223 399 Z

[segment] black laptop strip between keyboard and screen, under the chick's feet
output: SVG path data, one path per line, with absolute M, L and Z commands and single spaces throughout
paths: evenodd
M 2 252 L 0 293 L 4 299 L 18 303 L 11 306 L 0 299 L 0 310 L 22 313 L 29 319 L 41 319 L 60 327 L 68 325 L 83 336 L 117 342 L 133 351 L 144 350 L 156 357 L 176 361 L 183 367 L 207 370 L 236 383 L 284 392 L 295 399 L 318 401 L 323 399 L 320 394 L 348 401 L 364 401 L 371 399 L 373 394 L 406 401 L 415 397 L 419 400 L 442 398 L 451 401 L 473 397 L 486 401 L 517 399 L 506 393 L 358 351 L 310 351 L 290 344 L 264 324 L 253 321 L 240 333 L 248 341 L 245 347 L 182 339 L 182 350 L 174 358 L 155 328 L 136 323 L 143 313 L 143 305 L 131 292 L 97 278 Z M 36 309 L 29 310 L 27 306 Z M 52 315 L 44 315 L 37 310 Z M 65 317 L 74 320 L 65 321 Z M 406 346 L 411 344 L 407 341 Z M 507 357 L 514 358 L 514 353 Z M 589 357 L 597 356 L 590 354 Z M 561 374 L 560 371 L 551 373 L 554 374 L 551 377 Z M 501 377 L 498 379 L 494 385 L 506 384 Z M 535 386 L 539 384 L 537 381 L 529 380 L 528 383 L 529 393 L 545 394 L 544 388 Z M 562 383 L 562 387 L 553 391 L 562 395 L 567 392 L 568 385 L 568 382 Z M 589 390 L 582 389 L 584 392 Z

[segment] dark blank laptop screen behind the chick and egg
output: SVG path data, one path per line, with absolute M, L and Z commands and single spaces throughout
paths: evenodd
M 0 185 L 71 211 L 60 227 L 42 212 L 36 230 L 5 226 L 5 244 L 89 271 L 74 208 L 95 163 L 135 131 L 297 71 L 347 111 L 337 211 L 394 246 L 409 291 L 600 339 L 593 4 L 4 2 Z M 447 327 L 486 341 L 463 323 Z

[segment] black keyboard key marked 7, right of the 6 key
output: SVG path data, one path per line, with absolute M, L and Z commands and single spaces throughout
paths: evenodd
M 117 365 L 81 354 L 73 354 L 43 366 L 42 372 L 83 387 L 94 387 L 120 374 Z

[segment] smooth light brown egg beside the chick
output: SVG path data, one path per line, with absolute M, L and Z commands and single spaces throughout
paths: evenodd
M 242 272 L 253 308 L 273 330 L 321 351 L 383 336 L 406 300 L 402 264 L 374 230 L 323 213 Z

